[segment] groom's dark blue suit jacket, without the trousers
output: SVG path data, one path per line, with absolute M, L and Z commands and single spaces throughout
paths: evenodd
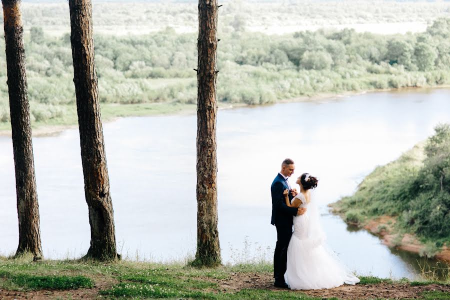
M 289 207 L 284 201 L 283 190 L 289 189 L 284 177 L 278 173 L 273 179 L 270 186 L 270 192 L 272 194 L 272 219 L 270 223 L 272 225 L 290 225 L 292 226 L 292 216 L 297 215 L 297 208 Z M 292 199 L 292 195 L 289 192 L 289 200 Z

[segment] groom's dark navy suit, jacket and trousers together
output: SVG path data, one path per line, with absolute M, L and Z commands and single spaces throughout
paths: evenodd
M 297 208 L 289 207 L 284 201 L 283 190 L 289 189 L 287 181 L 277 174 L 270 186 L 272 194 L 272 218 L 270 223 L 276 227 L 276 246 L 273 253 L 273 277 L 284 282 L 287 263 L 287 246 L 292 235 L 292 217 L 297 215 Z M 289 192 L 289 200 L 292 195 Z

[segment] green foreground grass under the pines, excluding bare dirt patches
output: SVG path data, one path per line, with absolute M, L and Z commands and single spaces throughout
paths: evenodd
M 202 298 L 202 299 L 305 299 L 317 300 L 301 292 L 269 290 L 267 288 L 227 289 L 214 280 L 233 280 L 236 273 L 271 274 L 271 265 L 243 264 L 224 266 L 216 269 L 193 268 L 181 263 L 158 264 L 147 262 L 93 262 L 93 261 L 51 261 L 30 262 L 27 257 L 6 259 L 0 257 L 1 290 L 66 290 L 78 294 L 76 288 L 90 289 L 92 297 L 133 297 L 133 298 Z M 271 277 L 271 276 L 270 276 Z M 423 298 L 450 299 L 449 282 L 412 281 L 407 279 L 392 281 L 376 277 L 360 277 L 359 284 L 398 286 L 418 286 L 438 284 L 443 292 L 421 291 Z M 383 285 L 384 284 L 384 285 Z M 73 294 L 73 295 L 74 295 Z M 333 298 L 337 299 L 337 298 Z

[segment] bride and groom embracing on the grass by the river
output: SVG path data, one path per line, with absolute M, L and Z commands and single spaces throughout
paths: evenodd
M 296 180 L 300 186 L 297 191 L 287 180 L 294 169 L 293 160 L 284 159 L 281 171 L 270 187 L 271 224 L 276 227 L 274 285 L 290 289 L 321 289 L 359 282 L 324 243 L 325 234 L 310 193 L 317 186 L 317 178 L 302 173 Z

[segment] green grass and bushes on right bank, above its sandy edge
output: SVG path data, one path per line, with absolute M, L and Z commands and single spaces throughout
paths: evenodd
M 450 125 L 436 126 L 424 144 L 375 168 L 353 195 L 334 206 L 350 223 L 391 215 L 397 229 L 431 240 L 431 246 L 449 243 Z

